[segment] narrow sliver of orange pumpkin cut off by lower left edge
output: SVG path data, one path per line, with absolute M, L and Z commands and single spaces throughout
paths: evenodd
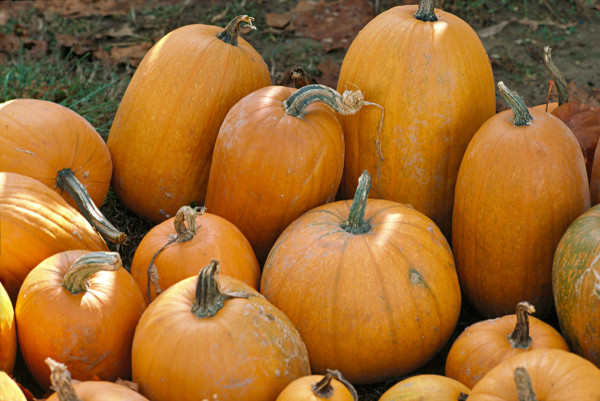
M 0 283 L 0 371 L 12 373 L 17 358 L 15 311 Z

